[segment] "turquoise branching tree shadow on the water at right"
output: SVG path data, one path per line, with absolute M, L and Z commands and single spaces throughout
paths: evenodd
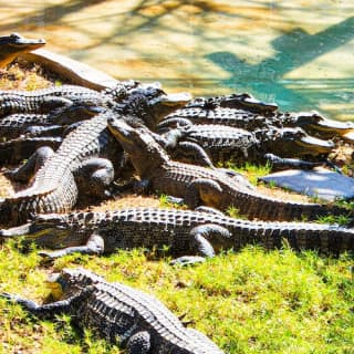
M 258 64 L 250 65 L 231 52 L 214 52 L 205 55 L 231 75 L 219 80 L 219 85 L 230 88 L 244 87 L 258 97 L 273 100 L 281 103 L 283 108 L 309 108 L 315 106 L 319 100 L 332 101 L 339 87 L 344 87 L 346 94 L 352 96 L 354 80 L 352 79 L 323 79 L 323 80 L 285 80 L 284 75 L 292 70 L 303 66 L 354 38 L 354 18 L 351 17 L 316 34 L 308 34 L 302 29 L 295 29 L 278 37 L 271 42 L 277 54 Z M 289 88 L 289 84 L 298 88 Z M 321 87 L 311 95 L 305 86 Z M 303 90 L 304 88 L 304 90 Z M 345 92 L 342 93 L 345 95 Z M 353 97 L 352 97 L 353 98 Z

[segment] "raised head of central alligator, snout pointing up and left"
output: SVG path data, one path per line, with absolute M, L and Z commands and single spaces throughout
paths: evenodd
M 117 117 L 110 117 L 107 123 L 108 129 L 129 155 L 140 177 L 144 178 L 146 170 L 158 169 L 168 162 L 168 155 L 147 128 L 133 128 Z

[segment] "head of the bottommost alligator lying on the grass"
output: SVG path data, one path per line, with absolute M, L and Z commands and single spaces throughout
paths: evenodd
M 46 279 L 46 287 L 51 289 L 54 300 L 70 295 L 102 281 L 102 278 L 83 268 L 64 268 L 60 273 L 52 273 Z

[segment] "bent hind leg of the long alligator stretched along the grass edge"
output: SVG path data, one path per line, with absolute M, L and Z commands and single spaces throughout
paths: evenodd
M 219 225 L 206 223 L 197 226 L 190 230 L 190 249 L 201 257 L 179 257 L 173 261 L 173 264 L 194 264 L 204 261 L 204 258 L 215 257 L 212 244 L 225 244 L 225 240 L 228 239 L 231 240 L 232 235 L 228 229 Z

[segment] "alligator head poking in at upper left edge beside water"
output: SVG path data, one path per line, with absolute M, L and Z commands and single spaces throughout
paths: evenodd
M 43 39 L 29 39 L 19 33 L 0 37 L 0 67 L 10 64 L 20 53 L 30 52 L 45 44 Z

